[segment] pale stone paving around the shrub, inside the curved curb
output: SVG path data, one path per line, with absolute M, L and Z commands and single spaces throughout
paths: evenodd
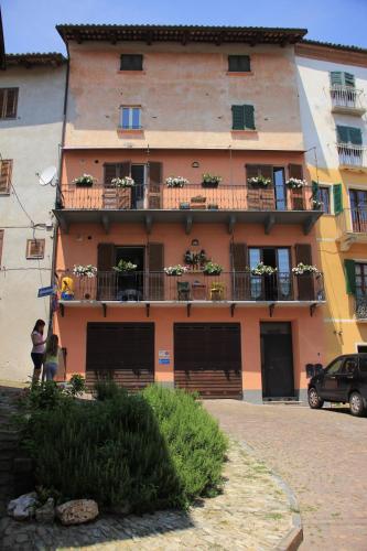
M 274 549 L 291 528 L 288 496 L 269 469 L 239 444 L 226 462 L 224 493 L 188 514 L 161 511 L 141 517 L 101 517 L 65 528 L 0 521 L 0 549 L 32 550 L 267 550 Z

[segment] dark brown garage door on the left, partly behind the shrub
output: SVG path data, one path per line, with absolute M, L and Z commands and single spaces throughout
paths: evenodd
M 153 323 L 88 323 L 86 382 L 107 378 L 128 390 L 154 381 Z

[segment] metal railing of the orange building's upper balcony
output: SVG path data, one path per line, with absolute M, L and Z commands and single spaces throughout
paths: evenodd
M 160 210 L 312 210 L 312 188 L 253 187 L 224 184 L 215 188 L 201 184 L 168 187 L 165 184 L 131 188 L 62 186 L 60 208 L 67 209 L 160 209 Z

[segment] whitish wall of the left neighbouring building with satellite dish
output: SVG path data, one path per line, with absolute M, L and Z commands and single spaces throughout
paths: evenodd
M 10 67 L 0 72 L 0 87 L 19 87 L 18 115 L 0 119 L 0 153 L 13 160 L 12 183 L 35 224 L 53 222 L 55 187 L 39 185 L 36 172 L 58 164 L 66 66 Z M 51 282 L 53 230 L 37 228 L 14 191 L 0 195 L 4 230 L 0 269 L 0 380 L 25 380 L 32 374 L 30 334 L 37 317 L 48 322 L 48 299 L 37 289 Z M 26 260 L 26 239 L 45 239 L 43 260 Z

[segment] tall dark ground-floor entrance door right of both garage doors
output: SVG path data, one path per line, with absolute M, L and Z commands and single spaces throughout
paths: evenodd
M 260 324 L 262 398 L 294 398 L 292 326 L 290 322 Z

